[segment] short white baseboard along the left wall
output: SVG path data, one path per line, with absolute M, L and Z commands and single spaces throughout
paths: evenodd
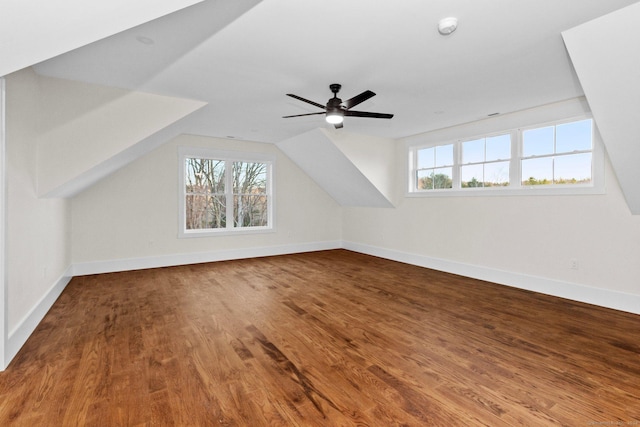
M 27 339 L 31 336 L 38 324 L 42 321 L 45 314 L 56 302 L 64 288 L 71 281 L 71 267 L 55 281 L 55 283 L 49 288 L 49 290 L 40 298 L 40 300 L 33 306 L 33 308 L 27 313 L 27 315 L 18 323 L 18 325 L 9 331 L 9 336 L 5 343 L 5 358 L 6 364 L 18 354 L 18 351 L 22 348 Z M 6 368 L 3 366 L 2 368 Z M 1 369 L 0 369 L 1 370 Z

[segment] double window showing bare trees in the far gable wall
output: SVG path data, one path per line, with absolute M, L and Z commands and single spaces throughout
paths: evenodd
M 181 236 L 272 229 L 273 159 L 182 149 Z

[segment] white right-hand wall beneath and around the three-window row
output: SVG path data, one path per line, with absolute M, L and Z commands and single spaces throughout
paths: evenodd
M 570 117 L 581 104 L 440 132 L 473 136 L 483 128 L 548 120 L 549 113 Z M 397 164 L 407 163 L 406 153 L 399 143 Z M 398 182 L 404 193 L 405 167 L 398 169 Z M 640 313 L 640 217 L 629 211 L 608 161 L 605 182 L 604 194 L 408 197 L 397 209 L 345 207 L 343 240 L 374 255 Z M 573 259 L 577 270 L 570 268 Z

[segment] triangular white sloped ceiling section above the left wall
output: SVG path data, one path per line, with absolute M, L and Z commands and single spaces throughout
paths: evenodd
M 119 169 L 157 146 L 152 135 L 206 105 L 50 77 L 39 87 L 37 179 L 46 197 L 72 196 Z

